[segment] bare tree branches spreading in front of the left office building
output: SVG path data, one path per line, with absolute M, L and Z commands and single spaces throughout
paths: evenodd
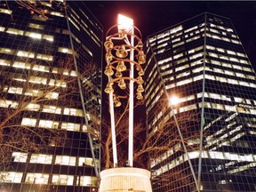
M 76 75 L 76 70 L 72 70 L 71 67 L 74 63 L 71 56 L 47 61 L 43 73 L 38 69 L 40 67 L 34 59 L 20 58 L 19 61 L 22 63 L 20 68 L 22 73 L 19 75 L 10 72 L 10 68 L 13 67 L 2 68 L 0 71 L 0 170 L 2 173 L 10 168 L 14 151 L 44 153 L 49 146 L 58 147 L 65 143 L 67 132 L 60 129 L 60 125 L 40 128 L 38 123 L 33 125 L 24 123 L 24 117 L 36 119 L 36 113 L 44 112 L 48 106 L 59 109 L 76 108 L 79 105 L 76 102 L 79 100 L 72 102 L 68 100 L 79 97 L 77 78 L 83 81 L 96 69 L 95 64 L 89 63 L 83 74 Z M 48 119 L 52 113 L 55 113 L 54 109 L 45 110 L 43 116 Z M 99 131 L 95 129 L 99 129 L 99 125 L 89 127 L 88 132 L 98 135 Z M 4 174 L 0 173 L 0 180 L 4 180 Z

